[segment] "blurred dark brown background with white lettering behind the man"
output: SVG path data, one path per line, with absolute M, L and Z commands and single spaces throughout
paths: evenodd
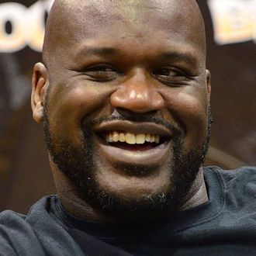
M 214 123 L 206 164 L 227 169 L 256 165 L 256 1 L 198 2 L 212 74 Z M 51 4 L 0 1 L 0 210 L 26 213 L 37 199 L 54 193 L 29 99 Z

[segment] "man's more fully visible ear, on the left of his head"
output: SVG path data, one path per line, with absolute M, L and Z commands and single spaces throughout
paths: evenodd
M 33 69 L 31 107 L 33 119 L 37 123 L 43 122 L 43 106 L 49 85 L 48 71 L 42 63 L 37 63 Z

